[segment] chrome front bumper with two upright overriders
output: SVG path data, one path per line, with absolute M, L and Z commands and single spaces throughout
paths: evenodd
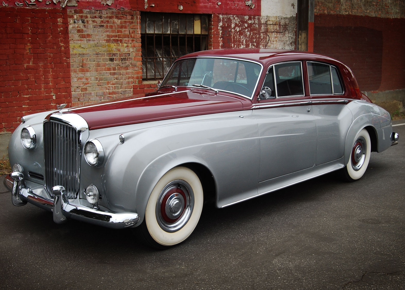
M 53 200 L 43 198 L 26 186 L 21 172 L 12 172 L 7 175 L 4 179 L 4 185 L 11 191 L 11 200 L 15 206 L 23 206 L 30 202 L 40 208 L 51 210 L 55 223 L 64 223 L 67 219 L 76 219 L 103 227 L 124 229 L 133 227 L 139 222 L 139 214 L 134 212 L 109 212 L 85 206 L 80 199 L 68 200 L 64 187 L 60 185 L 53 187 Z

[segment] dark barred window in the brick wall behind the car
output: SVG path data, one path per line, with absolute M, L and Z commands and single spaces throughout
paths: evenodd
M 141 12 L 142 79 L 162 79 L 178 58 L 208 48 L 208 15 Z

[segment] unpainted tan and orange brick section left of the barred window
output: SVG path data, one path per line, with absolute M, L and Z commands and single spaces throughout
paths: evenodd
M 75 9 L 68 18 L 72 105 L 132 96 L 142 83 L 139 11 Z

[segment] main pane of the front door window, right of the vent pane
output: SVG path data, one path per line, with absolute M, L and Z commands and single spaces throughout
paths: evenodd
M 303 77 L 301 62 L 275 65 L 277 97 L 303 96 Z

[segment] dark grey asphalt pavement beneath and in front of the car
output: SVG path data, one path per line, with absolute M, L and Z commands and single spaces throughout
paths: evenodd
M 57 225 L 13 206 L 1 183 L 0 288 L 405 289 L 405 125 L 394 131 L 399 144 L 373 153 L 359 181 L 327 174 L 206 207 L 188 241 L 165 251 L 129 230 Z

